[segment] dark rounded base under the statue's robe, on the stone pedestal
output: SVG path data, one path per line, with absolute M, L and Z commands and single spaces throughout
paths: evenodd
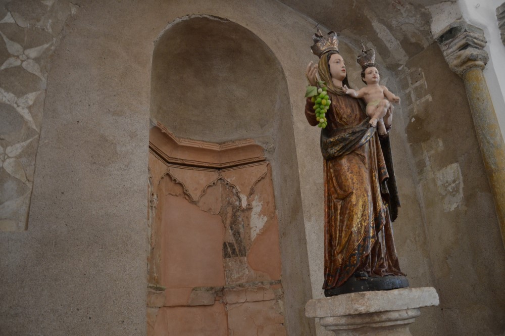
M 335 287 L 329 290 L 324 290 L 324 296 L 330 297 L 334 295 L 369 292 L 369 291 L 389 291 L 406 288 L 409 286 L 409 280 L 405 276 L 370 276 L 367 278 L 359 278 L 351 276 L 340 287 Z

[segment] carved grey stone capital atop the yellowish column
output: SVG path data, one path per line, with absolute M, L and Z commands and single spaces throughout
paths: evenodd
M 452 22 L 435 39 L 449 68 L 460 76 L 471 68 L 484 69 L 489 60 L 484 31 L 464 20 Z

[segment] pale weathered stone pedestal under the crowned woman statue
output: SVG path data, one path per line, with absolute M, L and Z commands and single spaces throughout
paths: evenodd
M 318 317 L 339 336 L 412 336 L 409 325 L 421 314 L 419 308 L 438 304 L 433 287 L 404 288 L 310 300 L 305 315 Z

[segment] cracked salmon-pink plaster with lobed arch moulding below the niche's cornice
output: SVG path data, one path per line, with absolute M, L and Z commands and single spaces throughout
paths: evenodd
M 168 234 L 161 232 L 162 238 L 158 243 L 162 244 L 160 283 L 166 287 L 166 290 L 163 292 L 163 297 L 161 293 L 148 292 L 151 306 L 159 306 L 157 302 L 162 301 L 164 306 L 174 308 L 224 303 L 228 325 L 233 325 L 237 318 L 242 318 L 240 317 L 242 315 L 238 316 L 235 311 L 231 312 L 232 310 L 237 308 L 239 312 L 242 312 L 245 309 L 248 318 L 260 321 L 254 329 L 259 334 L 264 332 L 267 334 L 274 332 L 276 335 L 286 334 L 284 320 L 282 319 L 279 323 L 279 317 L 275 317 L 276 314 L 283 313 L 284 305 L 282 303 L 283 290 L 280 286 L 279 235 L 269 166 L 269 163 L 263 162 L 223 171 L 195 167 L 188 169 L 167 165 L 158 160 L 154 154 L 150 155 L 149 185 L 150 193 L 153 195 L 151 208 L 154 210 L 150 216 L 158 218 L 159 211 L 172 214 L 170 218 L 163 217 L 163 223 L 165 223 L 163 230 L 166 230 Z M 157 196 L 160 193 L 166 193 L 165 197 Z M 182 216 L 174 217 L 175 213 L 180 213 Z M 201 218 L 198 220 L 195 216 Z M 214 219 L 211 220 L 209 216 Z M 258 217 L 261 218 L 261 227 L 258 223 L 256 226 L 254 224 Z M 217 223 L 211 223 L 217 218 L 221 219 L 222 229 L 226 233 L 220 233 L 221 240 L 218 237 L 218 244 L 215 244 L 215 248 L 210 248 L 209 243 L 216 241 L 216 237 L 210 233 L 209 229 L 211 226 L 218 229 Z M 205 223 L 200 227 L 205 231 L 203 235 L 193 227 L 193 223 L 198 222 Z M 156 226 L 156 223 L 151 224 L 153 225 Z M 183 230 L 181 231 L 180 228 Z M 190 239 L 187 239 L 188 233 Z M 174 240 L 173 237 L 176 239 Z M 220 247 L 223 241 L 223 255 L 218 257 L 217 247 Z M 198 249 L 192 248 L 194 244 L 198 246 Z M 277 249 L 272 250 L 275 246 Z M 228 250 L 229 247 L 233 249 Z M 177 252 L 169 251 L 167 254 L 163 251 L 168 251 L 167 248 L 175 249 Z M 190 250 L 195 251 L 196 256 L 199 257 L 194 259 L 193 254 L 189 253 Z M 227 255 L 229 253 L 238 253 L 239 256 Z M 188 258 L 191 260 L 189 261 Z M 221 280 L 220 267 L 209 258 L 220 262 L 224 258 L 224 280 Z M 205 259 L 204 264 L 201 264 L 198 259 Z M 198 265 L 196 268 L 193 267 L 195 264 Z M 182 268 L 185 269 L 183 273 L 167 273 L 167 270 L 171 272 L 170 269 Z M 179 279 L 181 274 L 184 279 Z M 205 276 L 201 277 L 201 274 Z M 221 283 L 221 281 L 225 282 Z M 209 285 L 214 286 L 209 287 Z M 269 304 L 270 308 L 257 312 L 253 310 L 251 313 L 251 303 L 272 300 L 276 303 L 273 306 Z M 245 304 L 242 310 L 236 306 L 239 302 Z M 163 331 L 159 325 L 156 327 L 159 323 L 157 321 L 163 320 L 166 316 L 163 315 L 164 308 L 160 309 L 162 313 L 158 311 L 156 316 L 153 316 L 155 313 L 153 311 L 148 315 L 149 321 L 154 320 L 149 322 L 149 335 L 161 335 L 167 330 Z M 276 309 L 277 312 L 270 312 L 269 309 Z M 183 313 L 184 311 L 176 311 L 176 314 Z M 174 323 L 168 325 L 168 330 L 182 327 Z M 241 334 L 254 330 L 233 331 L 230 329 L 230 332 Z

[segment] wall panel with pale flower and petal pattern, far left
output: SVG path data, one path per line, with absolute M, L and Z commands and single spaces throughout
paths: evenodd
M 12 1 L 0 16 L 0 231 L 23 231 L 33 188 L 49 56 L 77 7 Z

